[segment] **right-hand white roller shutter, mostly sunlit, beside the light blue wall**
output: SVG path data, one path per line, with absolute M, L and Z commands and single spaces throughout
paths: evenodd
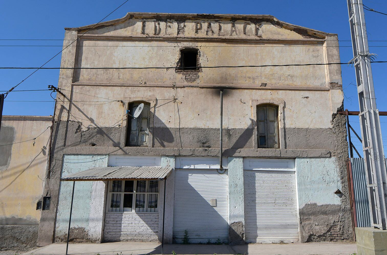
M 244 188 L 246 242 L 298 241 L 294 171 L 245 170 Z

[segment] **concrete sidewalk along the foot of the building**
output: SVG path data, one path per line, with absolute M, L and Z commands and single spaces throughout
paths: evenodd
M 164 254 L 246 254 L 246 255 L 351 255 L 356 252 L 355 243 L 288 243 L 251 245 L 164 245 Z M 30 251 L 28 255 L 65 254 L 65 243 L 54 243 Z M 161 254 L 159 243 L 70 243 L 72 255 L 140 255 Z

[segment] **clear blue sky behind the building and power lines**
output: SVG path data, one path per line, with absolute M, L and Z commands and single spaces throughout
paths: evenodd
M 0 39 L 56 39 L 56 41 L 10 41 L 0 40 L 0 45 L 58 45 L 59 47 L 10 47 L 0 46 L 0 66 L 40 66 L 62 49 L 65 27 L 84 26 L 100 21 L 123 0 L 67 0 L 67 1 L 1 1 Z M 363 0 L 370 8 L 387 13 L 387 2 Z M 172 13 L 217 13 L 217 14 L 270 14 L 292 24 L 305 26 L 329 33 L 337 33 L 340 41 L 341 62 L 353 57 L 346 0 L 277 0 L 277 1 L 128 1 L 106 20 L 125 16 L 127 12 L 172 12 Z M 387 16 L 365 11 L 370 52 L 378 55 L 377 60 L 387 60 L 387 33 L 384 24 Z M 348 40 L 348 41 L 347 41 Z M 375 41 L 385 40 L 385 41 Z M 46 67 L 60 66 L 58 55 Z M 9 90 L 26 78 L 33 70 L 0 69 L 0 90 Z M 373 64 L 377 106 L 387 111 L 385 90 L 387 64 Z M 59 70 L 39 70 L 17 87 L 17 90 L 46 89 L 49 84 L 57 86 Z M 342 65 L 344 109 L 357 111 L 356 78 L 353 67 Z M 13 92 L 4 103 L 4 115 L 52 115 L 53 102 L 48 91 Z M 357 116 L 350 117 L 350 124 L 360 131 Z M 387 148 L 387 116 L 380 117 L 382 135 Z M 360 134 L 360 132 L 358 132 Z M 361 143 L 353 138 L 361 152 Z M 385 150 L 386 154 L 387 151 Z

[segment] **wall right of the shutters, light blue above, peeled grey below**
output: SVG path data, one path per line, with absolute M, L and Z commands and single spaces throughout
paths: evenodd
M 298 158 L 296 169 L 301 242 L 331 241 L 341 208 L 337 159 Z

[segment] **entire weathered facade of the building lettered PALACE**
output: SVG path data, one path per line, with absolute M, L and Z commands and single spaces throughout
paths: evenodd
M 339 62 L 336 34 L 269 15 L 129 13 L 66 28 L 63 47 L 82 34 L 62 53 L 76 69 L 60 72 L 43 192 L 57 207 L 42 211 L 38 245 L 67 238 L 60 179 L 109 166 L 174 170 L 75 183 L 70 240 L 161 240 L 164 184 L 167 242 L 352 238 L 340 66 L 272 66 Z

